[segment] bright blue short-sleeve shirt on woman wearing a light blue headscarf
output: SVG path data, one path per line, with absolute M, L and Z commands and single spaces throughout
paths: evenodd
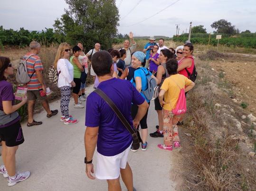
M 152 73 L 150 71 L 148 71 L 147 69 L 145 69 L 143 67 L 140 67 L 134 71 L 134 80 L 136 77 L 139 77 L 142 80 L 142 90 L 146 90 L 148 88 L 148 80 L 146 77 L 146 74 L 148 74 L 148 73 L 150 74 L 150 76 L 152 75 Z M 131 82 L 133 83 L 133 86 L 136 87 L 136 83 L 134 80 L 132 78 Z M 141 95 L 142 95 L 142 97 L 144 97 L 144 99 L 146 100 L 147 103 L 150 102 L 150 100 L 146 98 L 146 96 L 142 93 L 142 91 L 141 91 Z

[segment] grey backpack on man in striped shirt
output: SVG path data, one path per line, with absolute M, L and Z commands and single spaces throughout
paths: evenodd
M 33 76 L 33 74 L 35 73 L 34 71 L 33 74 L 29 76 L 28 69 L 27 69 L 27 60 L 33 55 L 36 55 L 36 54 L 29 55 L 27 59 L 22 57 L 19 60 L 19 65 L 18 65 L 17 74 L 16 74 L 16 81 L 19 84 L 27 84 L 31 80 L 31 77 Z

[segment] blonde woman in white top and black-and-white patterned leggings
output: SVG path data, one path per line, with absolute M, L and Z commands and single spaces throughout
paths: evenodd
M 75 87 L 76 84 L 73 81 L 74 68 L 73 65 L 68 61 L 69 59 L 70 46 L 68 43 L 61 43 L 58 47 L 57 54 L 54 60 L 54 68 L 57 68 L 58 72 L 58 84 L 60 88 L 61 99 L 60 99 L 60 110 L 61 118 L 60 121 L 67 124 L 77 123 L 77 120 L 73 119 L 68 113 L 68 104 L 70 101 L 71 87 Z

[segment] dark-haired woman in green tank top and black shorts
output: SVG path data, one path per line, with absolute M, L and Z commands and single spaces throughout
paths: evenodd
M 81 105 L 82 102 L 78 102 L 78 93 L 80 91 L 81 87 L 81 72 L 84 71 L 84 68 L 82 67 L 81 63 L 78 60 L 78 57 L 80 55 L 80 52 L 82 51 L 79 46 L 74 46 L 73 49 L 73 56 L 70 57 L 70 63 L 74 66 L 74 82 L 76 83 L 76 86 L 73 87 L 73 97 L 74 97 L 74 108 L 84 108 L 84 105 Z

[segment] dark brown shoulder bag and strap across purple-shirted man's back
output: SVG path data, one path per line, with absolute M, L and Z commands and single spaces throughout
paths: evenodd
M 96 88 L 95 93 L 97 93 L 99 96 L 101 96 L 105 102 L 113 109 L 114 113 L 117 115 L 117 117 L 120 119 L 120 121 L 123 123 L 124 127 L 131 133 L 133 136 L 133 149 L 137 150 L 140 148 L 140 142 L 142 142 L 140 132 L 138 129 L 134 129 L 129 122 L 125 119 L 123 114 L 120 112 L 120 110 L 117 108 L 117 106 L 114 104 L 114 102 L 99 88 Z

